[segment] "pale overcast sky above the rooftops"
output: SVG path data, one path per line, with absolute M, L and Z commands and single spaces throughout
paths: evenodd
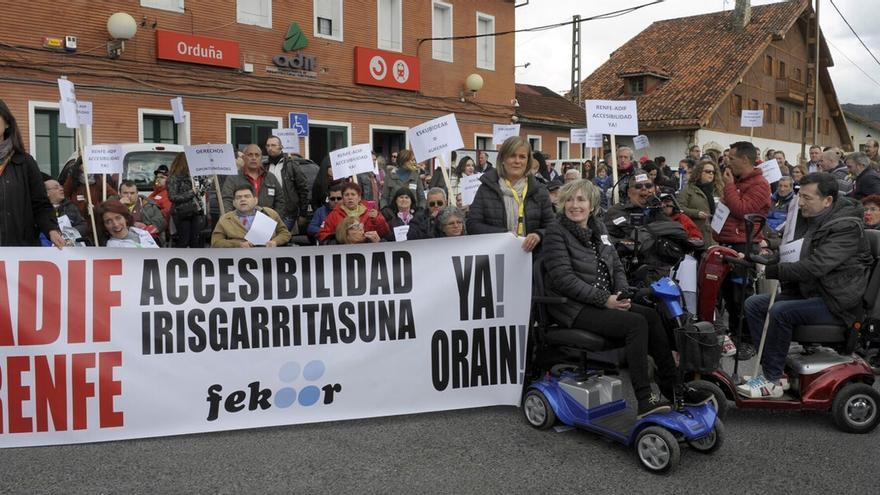
M 516 9 L 516 28 L 530 28 L 570 21 L 579 14 L 591 17 L 650 3 L 651 0 L 516 0 L 528 5 Z M 815 5 L 815 0 L 812 0 Z M 880 103 L 880 64 L 859 43 L 831 4 L 819 0 L 819 23 L 831 48 L 834 66 L 829 68 L 841 103 Z M 752 6 L 775 3 L 752 0 Z M 834 0 L 837 8 L 880 59 L 880 0 Z M 691 15 L 732 10 L 734 0 L 666 0 L 612 19 L 581 24 L 581 78 L 586 78 L 618 47 L 652 22 Z M 555 91 L 571 87 L 571 26 L 516 34 L 516 82 L 546 86 Z M 848 58 L 847 58 L 848 57 Z M 859 70 L 859 67 L 866 74 Z M 871 80 L 873 79 L 873 81 Z

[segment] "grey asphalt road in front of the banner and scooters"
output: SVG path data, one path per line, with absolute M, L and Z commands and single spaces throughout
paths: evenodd
M 734 407 L 725 426 L 718 452 L 683 447 L 668 476 L 595 434 L 538 431 L 519 409 L 490 407 L 2 449 L 0 493 L 876 493 L 880 428 Z

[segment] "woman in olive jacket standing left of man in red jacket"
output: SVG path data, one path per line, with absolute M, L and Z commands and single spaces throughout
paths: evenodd
M 678 194 L 681 211 L 700 228 L 707 247 L 715 245 L 712 239 L 712 215 L 715 214 L 715 198 L 721 197 L 723 191 L 724 183 L 718 164 L 703 158 L 694 165 L 687 185 Z

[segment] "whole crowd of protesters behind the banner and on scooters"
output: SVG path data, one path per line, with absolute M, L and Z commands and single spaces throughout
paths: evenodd
M 485 152 L 476 161 L 462 157 L 447 184 L 447 177 L 432 173 L 430 164 L 419 164 L 406 149 L 387 162 L 374 155 L 371 173 L 337 178 L 329 160 L 316 165 L 284 154 L 273 136 L 264 143 L 267 156 L 257 145 L 243 150 L 240 171 L 223 178 L 219 198 L 213 197 L 211 181 L 190 174 L 186 155 L 180 153 L 170 169 L 155 170 L 148 196 L 139 194 L 133 182 L 122 181 L 119 191 L 111 188 L 108 200 L 92 208 L 89 198 L 102 197 L 104 191 L 84 173 L 81 160 L 61 177 L 44 180 L 2 101 L 0 125 L 3 246 L 42 242 L 61 248 L 97 238 L 108 247 L 277 248 L 511 233 L 523 250 L 551 261 L 546 263 L 546 289 L 570 301 L 553 310 L 558 322 L 625 343 L 640 415 L 669 409 L 676 366 L 656 311 L 625 295 L 639 260 L 645 265 L 681 258 L 675 243 L 661 240 L 679 236 L 746 253 L 778 248 L 786 232 L 789 240 L 804 239 L 799 261 L 767 268 L 768 276 L 784 282 L 784 304 L 771 310 L 774 338 L 764 353 L 764 373 L 740 387 L 743 395 L 773 398 L 781 396 L 785 385 L 780 363 L 793 325 L 807 320 L 852 323 L 860 297 L 853 294 L 866 283 L 870 264 L 859 235 L 880 227 L 876 141 L 866 152 L 849 155 L 813 147 L 809 161 L 799 165 L 768 150 L 764 158 L 775 159 L 782 175 L 773 184 L 758 167 L 759 150 L 749 142 L 727 149 L 716 143 L 693 146 L 678 170 L 663 157 L 636 162 L 633 150 L 624 146 L 614 150 L 619 180 L 612 184 L 607 159 L 595 167 L 589 162 L 557 171 L 527 140 L 511 137 L 494 165 Z M 474 174 L 481 174 L 480 187 L 465 206 L 460 184 Z M 712 218 L 721 205 L 729 213 L 713 231 Z M 749 214 L 768 218 L 766 227 L 751 236 L 744 227 Z M 254 244 L 250 229 L 267 221 L 273 226 L 270 235 Z M 650 253 L 643 251 L 649 241 Z M 728 277 L 722 290 L 728 327 L 735 328 L 744 314 L 754 342 L 767 298 L 752 296 L 737 280 Z M 732 343 L 725 345 L 726 352 L 737 352 Z M 739 351 L 748 352 L 748 347 L 745 342 Z M 648 355 L 658 366 L 660 394 L 650 386 Z M 684 398 L 689 404 L 709 399 L 690 388 Z

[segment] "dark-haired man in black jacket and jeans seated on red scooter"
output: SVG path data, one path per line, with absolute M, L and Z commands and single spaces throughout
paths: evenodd
M 792 331 L 798 325 L 852 325 L 859 319 L 868 283 L 870 246 L 864 234 L 860 204 L 838 196 L 838 184 L 828 173 L 812 173 L 800 181 L 800 216 L 795 240 L 801 243 L 796 261 L 767 265 L 768 279 L 785 290 L 769 309 L 770 322 L 761 358 L 763 373 L 737 387 L 751 399 L 778 399 Z M 746 300 L 745 314 L 752 341 L 761 341 L 769 294 Z

